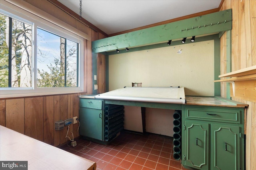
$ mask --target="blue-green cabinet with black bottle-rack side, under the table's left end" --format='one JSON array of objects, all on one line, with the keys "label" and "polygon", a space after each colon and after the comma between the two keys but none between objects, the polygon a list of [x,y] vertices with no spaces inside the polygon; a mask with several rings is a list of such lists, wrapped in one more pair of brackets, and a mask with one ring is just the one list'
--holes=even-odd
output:
[{"label": "blue-green cabinet with black bottle-rack side, under the table's left end", "polygon": [[79,102],[79,134],[82,137],[107,144],[124,129],[124,106],[104,104],[104,100],[86,95],[81,96]]}]

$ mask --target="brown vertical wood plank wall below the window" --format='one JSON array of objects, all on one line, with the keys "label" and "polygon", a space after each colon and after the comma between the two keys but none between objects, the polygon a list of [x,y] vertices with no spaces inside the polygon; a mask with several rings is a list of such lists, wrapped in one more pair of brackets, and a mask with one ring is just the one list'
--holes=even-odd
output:
[{"label": "brown vertical wood plank wall below the window", "polygon": [[[67,128],[57,131],[55,121],[79,117],[79,95],[64,94],[44,97],[0,100],[0,125],[30,136],[50,145],[58,146],[68,141]],[[68,136],[78,137],[78,123],[70,125]]]}]

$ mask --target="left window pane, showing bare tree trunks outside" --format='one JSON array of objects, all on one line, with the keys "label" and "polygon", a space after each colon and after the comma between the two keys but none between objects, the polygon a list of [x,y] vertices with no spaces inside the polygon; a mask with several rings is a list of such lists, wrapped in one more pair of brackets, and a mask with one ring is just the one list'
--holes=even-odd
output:
[{"label": "left window pane, showing bare tree trunks outside", "polygon": [[2,14],[0,18],[1,87],[31,87],[32,25]]}]

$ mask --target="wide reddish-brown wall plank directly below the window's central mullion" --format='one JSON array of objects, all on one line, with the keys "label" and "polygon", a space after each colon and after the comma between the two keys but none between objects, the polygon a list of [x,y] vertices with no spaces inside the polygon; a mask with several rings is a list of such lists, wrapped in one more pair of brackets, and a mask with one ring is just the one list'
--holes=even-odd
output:
[{"label": "wide reddish-brown wall plank directly below the window's central mullion", "polygon": [[43,141],[44,139],[44,98],[25,98],[24,135]]}]

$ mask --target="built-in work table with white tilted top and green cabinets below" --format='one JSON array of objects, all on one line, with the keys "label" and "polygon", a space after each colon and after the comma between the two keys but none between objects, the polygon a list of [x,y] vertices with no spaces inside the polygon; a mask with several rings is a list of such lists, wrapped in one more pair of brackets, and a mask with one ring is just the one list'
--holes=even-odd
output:
[{"label": "built-in work table with white tilted top and green cabinets below", "polygon": [[244,170],[247,104],[217,96],[185,96],[180,87],[166,92],[163,88],[145,90],[123,88],[80,96],[80,135],[110,142],[124,128],[124,106],[172,109],[180,114],[180,119],[174,118],[178,123],[173,123],[177,129],[174,159],[182,160],[186,168]]}]

